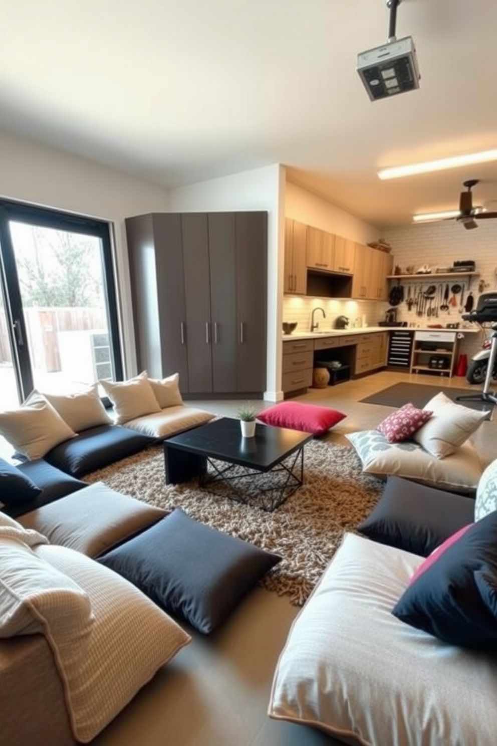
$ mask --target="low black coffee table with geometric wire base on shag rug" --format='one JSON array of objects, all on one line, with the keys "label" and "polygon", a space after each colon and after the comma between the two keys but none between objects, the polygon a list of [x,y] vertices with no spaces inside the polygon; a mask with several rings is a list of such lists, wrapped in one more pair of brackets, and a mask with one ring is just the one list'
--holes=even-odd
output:
[{"label": "low black coffee table with geometric wire base on shag rug", "polygon": [[253,438],[224,417],[164,441],[165,483],[198,477],[200,487],[275,510],[303,484],[311,433],[256,423]]}]

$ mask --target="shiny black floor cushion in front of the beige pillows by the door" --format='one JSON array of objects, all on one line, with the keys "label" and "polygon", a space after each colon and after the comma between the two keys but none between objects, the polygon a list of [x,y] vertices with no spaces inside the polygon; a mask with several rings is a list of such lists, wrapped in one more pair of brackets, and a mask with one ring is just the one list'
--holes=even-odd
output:
[{"label": "shiny black floor cushion in front of the beige pillows by the door", "polygon": [[153,443],[153,438],[128,427],[104,424],[82,430],[45,454],[45,460],[73,477],[82,477],[114,461],[132,456]]}]

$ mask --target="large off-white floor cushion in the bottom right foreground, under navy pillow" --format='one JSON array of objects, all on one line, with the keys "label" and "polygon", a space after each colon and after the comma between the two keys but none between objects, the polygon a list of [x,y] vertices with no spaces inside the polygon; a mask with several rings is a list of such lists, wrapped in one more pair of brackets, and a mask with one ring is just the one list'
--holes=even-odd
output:
[{"label": "large off-white floor cushion in the bottom right foreground, under navy pillow", "polygon": [[365,746],[495,744],[497,658],[447,645],[390,613],[422,561],[346,534],[291,627],[272,718]]}]

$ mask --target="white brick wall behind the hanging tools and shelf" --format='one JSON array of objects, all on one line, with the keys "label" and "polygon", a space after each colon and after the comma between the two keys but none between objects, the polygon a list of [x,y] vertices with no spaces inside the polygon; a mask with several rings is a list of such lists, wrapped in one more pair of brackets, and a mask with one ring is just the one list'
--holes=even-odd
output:
[{"label": "white brick wall behind the hanging tools and shelf", "polygon": [[[447,280],[437,279],[434,270],[453,266],[455,261],[473,260],[475,271],[479,277],[471,280],[470,290],[475,298],[475,307],[478,301],[479,280],[482,281],[483,292],[497,290],[497,220],[481,220],[478,228],[472,231],[466,229],[455,220],[446,220],[433,223],[422,223],[419,225],[408,225],[405,228],[396,228],[384,231],[384,237],[392,246],[393,264],[398,265],[402,272],[410,265],[414,271],[427,264],[432,274],[426,278],[425,287],[428,283],[437,284],[439,281],[446,283]],[[465,283],[467,294],[468,278],[464,275],[454,275],[454,280],[449,278],[449,284]],[[402,280],[406,288],[409,283]],[[419,280],[411,283],[411,288],[418,286]],[[460,298],[460,295],[458,296]],[[405,304],[397,307],[399,321],[408,323],[443,324],[457,323],[465,324],[458,310],[459,307],[450,307],[450,313],[440,312],[434,319],[419,319],[415,310],[408,311]],[[468,324],[469,328],[475,325]],[[485,336],[485,335],[483,335]],[[468,355],[468,358],[481,346],[481,335],[466,335],[460,346],[460,352]]]}]

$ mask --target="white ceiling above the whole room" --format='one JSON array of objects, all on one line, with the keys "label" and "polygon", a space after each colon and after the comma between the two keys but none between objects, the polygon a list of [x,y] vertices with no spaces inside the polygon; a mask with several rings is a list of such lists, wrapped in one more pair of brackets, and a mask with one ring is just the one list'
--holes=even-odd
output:
[{"label": "white ceiling above the whole room", "polygon": [[[283,163],[379,227],[497,205],[497,163],[376,169],[497,148],[496,0],[404,0],[420,90],[371,102],[358,52],[385,0],[0,0],[0,128],[165,187]],[[492,204],[493,203],[493,204]]]}]

